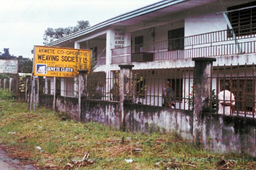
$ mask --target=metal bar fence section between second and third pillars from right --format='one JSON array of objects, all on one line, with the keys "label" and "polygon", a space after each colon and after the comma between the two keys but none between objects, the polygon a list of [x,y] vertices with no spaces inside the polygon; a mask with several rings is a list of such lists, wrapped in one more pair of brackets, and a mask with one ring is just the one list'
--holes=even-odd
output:
[{"label": "metal bar fence section between second and third pillars from right", "polygon": [[91,72],[87,76],[87,99],[119,101],[119,71]]}]

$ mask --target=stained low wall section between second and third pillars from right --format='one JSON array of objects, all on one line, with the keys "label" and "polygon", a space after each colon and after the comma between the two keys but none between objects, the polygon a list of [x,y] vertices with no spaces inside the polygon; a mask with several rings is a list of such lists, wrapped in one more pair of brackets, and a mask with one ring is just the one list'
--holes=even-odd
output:
[{"label": "stained low wall section between second and third pillars from right", "polygon": [[99,122],[119,128],[119,102],[100,100],[81,100],[81,121]]}]

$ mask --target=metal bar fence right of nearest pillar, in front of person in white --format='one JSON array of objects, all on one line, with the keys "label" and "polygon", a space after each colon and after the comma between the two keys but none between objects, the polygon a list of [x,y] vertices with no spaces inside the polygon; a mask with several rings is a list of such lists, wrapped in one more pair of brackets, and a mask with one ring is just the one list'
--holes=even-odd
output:
[{"label": "metal bar fence right of nearest pillar, in front of person in white", "polygon": [[[215,105],[219,114],[236,115],[244,117],[255,117],[256,97],[255,97],[255,76],[256,70],[254,63],[251,65],[236,66],[215,66],[213,67],[212,90],[215,93]],[[223,89],[228,83],[230,92]],[[221,91],[223,91],[221,93]],[[214,102],[214,101],[213,101]],[[224,104],[221,104],[224,103]],[[232,111],[232,106],[234,110]]]}]

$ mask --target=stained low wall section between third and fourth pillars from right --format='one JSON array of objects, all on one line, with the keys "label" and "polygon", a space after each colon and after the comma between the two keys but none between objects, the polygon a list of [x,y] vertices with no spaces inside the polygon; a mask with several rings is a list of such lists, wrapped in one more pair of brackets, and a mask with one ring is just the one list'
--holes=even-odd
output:
[{"label": "stained low wall section between third and fourth pillars from right", "polygon": [[56,96],[56,111],[69,114],[70,118],[79,120],[78,99],[71,97]]}]

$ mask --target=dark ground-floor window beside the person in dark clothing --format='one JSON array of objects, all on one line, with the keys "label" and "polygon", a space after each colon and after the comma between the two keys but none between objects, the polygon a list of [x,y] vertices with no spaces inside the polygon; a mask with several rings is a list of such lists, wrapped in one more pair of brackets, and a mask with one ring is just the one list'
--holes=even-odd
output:
[{"label": "dark ground-floor window beside the person in dark clothing", "polygon": [[183,80],[182,79],[167,79],[167,81],[170,81],[171,88],[174,91],[175,101],[182,101]]}]

